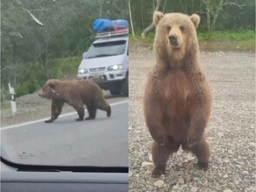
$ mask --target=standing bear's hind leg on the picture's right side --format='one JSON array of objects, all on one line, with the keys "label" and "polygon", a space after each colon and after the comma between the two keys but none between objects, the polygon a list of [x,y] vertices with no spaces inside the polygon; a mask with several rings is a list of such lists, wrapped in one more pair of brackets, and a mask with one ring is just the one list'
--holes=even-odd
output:
[{"label": "standing bear's hind leg on the picture's right side", "polygon": [[201,141],[196,143],[196,145],[192,147],[187,147],[186,145],[182,145],[182,148],[186,151],[190,151],[192,154],[196,155],[197,165],[199,168],[207,170],[209,168],[209,160],[210,160],[210,145],[202,138]]}]

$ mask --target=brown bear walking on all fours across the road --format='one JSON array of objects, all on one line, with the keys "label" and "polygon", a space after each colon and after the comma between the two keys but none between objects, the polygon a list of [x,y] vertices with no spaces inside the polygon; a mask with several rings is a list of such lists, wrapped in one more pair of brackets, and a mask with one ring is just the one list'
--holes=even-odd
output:
[{"label": "brown bear walking on all fours across the road", "polygon": [[110,117],[111,108],[103,96],[101,88],[90,80],[66,80],[58,79],[47,80],[45,86],[42,87],[41,98],[52,99],[52,115],[50,120],[45,122],[53,122],[61,113],[64,103],[73,106],[78,113],[79,118],[83,120],[84,105],[87,107],[89,117],[86,120],[96,118],[96,109],[107,112]]}]

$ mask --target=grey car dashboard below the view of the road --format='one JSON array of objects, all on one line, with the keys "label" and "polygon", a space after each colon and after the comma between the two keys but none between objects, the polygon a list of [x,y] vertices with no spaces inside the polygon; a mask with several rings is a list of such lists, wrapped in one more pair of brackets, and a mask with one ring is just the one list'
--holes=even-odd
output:
[{"label": "grey car dashboard below the view of the road", "polygon": [[129,168],[29,166],[1,155],[2,192],[128,191]]}]

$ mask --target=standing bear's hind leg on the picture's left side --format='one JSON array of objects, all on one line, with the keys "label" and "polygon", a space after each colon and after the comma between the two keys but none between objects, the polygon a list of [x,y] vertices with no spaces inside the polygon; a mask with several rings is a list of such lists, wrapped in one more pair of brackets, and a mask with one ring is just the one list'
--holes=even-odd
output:
[{"label": "standing bear's hind leg on the picture's left side", "polygon": [[178,151],[180,147],[179,143],[176,143],[172,137],[167,137],[167,142],[164,145],[153,141],[152,157],[154,168],[152,171],[152,177],[160,177],[166,173],[167,160],[170,154]]}]

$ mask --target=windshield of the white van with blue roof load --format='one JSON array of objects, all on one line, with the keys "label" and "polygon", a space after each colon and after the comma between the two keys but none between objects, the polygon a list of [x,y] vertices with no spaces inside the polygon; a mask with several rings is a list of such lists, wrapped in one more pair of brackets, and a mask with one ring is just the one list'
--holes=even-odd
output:
[{"label": "windshield of the white van with blue roof load", "polygon": [[125,52],[125,40],[93,44],[89,47],[85,58],[100,58],[122,55]]}]

